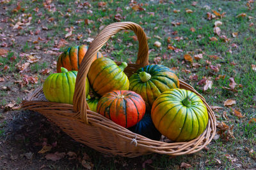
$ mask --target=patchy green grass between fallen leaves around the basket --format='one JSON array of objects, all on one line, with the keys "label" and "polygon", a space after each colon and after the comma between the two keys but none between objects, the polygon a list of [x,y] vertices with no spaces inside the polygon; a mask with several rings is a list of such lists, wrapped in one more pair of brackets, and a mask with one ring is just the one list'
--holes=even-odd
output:
[{"label": "patchy green grass between fallen leaves around the basket", "polygon": [[[12,9],[15,8],[13,6],[16,5],[16,2],[10,1],[10,3],[6,4],[6,6],[10,6],[6,15],[15,20],[16,23],[19,17],[22,18],[23,13],[31,13],[31,24],[15,32],[19,32],[21,36],[24,36],[29,34],[29,30],[35,32],[41,29],[39,35],[49,41],[47,43],[39,43],[38,46],[45,51],[52,50],[58,39],[65,38],[65,34],[67,34],[65,29],[70,27],[74,27],[74,31],[72,32],[73,37],[66,39],[69,43],[67,46],[86,43],[84,39],[95,38],[100,31],[100,27],[117,22],[115,19],[117,13],[124,17],[121,19],[122,21],[132,21],[140,24],[148,36],[149,62],[151,64],[154,63],[155,57],[161,57],[159,64],[168,67],[178,67],[177,76],[193,85],[198,92],[203,94],[209,105],[223,106],[225,100],[235,99],[236,105],[232,106],[232,108],[241,111],[244,115],[244,118],[237,118],[233,111],[227,107],[221,111],[216,111],[216,115],[219,116],[218,122],[225,121],[228,126],[234,125],[233,132],[235,138],[229,138],[228,141],[222,138],[212,140],[208,146],[209,150],[172,159],[166,155],[154,155],[153,158],[152,155],[145,155],[140,157],[141,161],[154,159],[153,163],[150,164],[153,169],[177,169],[181,162],[195,163],[194,169],[236,169],[237,164],[241,164],[245,169],[255,167],[255,152],[249,154],[246,148],[256,150],[256,124],[248,124],[251,118],[255,118],[256,112],[255,100],[253,101],[253,97],[256,96],[256,76],[255,71],[251,67],[252,64],[256,64],[256,18],[248,18],[248,16],[256,16],[256,4],[252,3],[253,10],[248,10],[246,1],[196,1],[196,6],[191,6],[192,1],[175,1],[173,4],[167,1],[164,1],[165,3],[159,1],[138,1],[138,4],[143,4],[141,7],[145,10],[134,11],[129,5],[130,1],[113,0],[112,3],[109,1],[105,2],[106,6],[99,7],[99,1],[89,1],[90,6],[86,6],[86,4],[78,6],[74,1],[58,1],[54,2],[56,10],[54,11],[54,8],[51,7],[49,11],[44,7],[44,1],[22,1],[21,6],[24,8],[24,11],[19,10],[17,13],[13,13]],[[205,9],[205,5],[208,5],[211,10]],[[40,9],[38,13],[33,10],[36,7]],[[116,11],[118,7],[122,11]],[[186,13],[187,8],[192,10],[193,13]],[[180,10],[180,12],[174,13],[173,10]],[[212,13],[212,10],[216,10],[219,13],[226,12],[226,14],[224,17],[217,16],[216,19],[207,20],[207,12]],[[42,13],[42,15],[39,15],[39,13]],[[240,13],[246,13],[246,17],[236,17]],[[49,22],[48,19],[51,17],[54,20]],[[40,24],[38,24],[39,19],[41,21]],[[92,20],[93,24],[86,25],[84,19]],[[214,34],[213,27],[216,20],[223,22],[219,26],[221,29],[220,35],[227,36],[230,41],[222,41],[218,35]],[[180,22],[180,25],[175,26],[172,22]],[[252,27],[249,26],[251,23],[254,23]],[[42,30],[42,25],[49,30]],[[195,28],[195,32],[190,30],[191,27]],[[2,32],[4,32],[4,29],[0,30],[0,33]],[[173,32],[177,32],[177,34],[173,34]],[[237,32],[236,37],[232,36],[233,32]],[[83,38],[76,39],[77,34],[83,34]],[[101,51],[105,52],[107,57],[115,60],[126,62],[131,60],[135,62],[138,52],[138,41],[134,41],[132,36],[134,36],[132,31],[118,32],[109,39],[108,45],[103,46]],[[168,37],[171,38],[170,43],[167,41]],[[181,38],[180,41],[175,40],[175,37]],[[216,37],[218,41],[211,41],[210,38],[212,37]],[[161,48],[154,46],[155,41],[161,42]],[[169,44],[181,49],[182,52],[168,50]],[[232,46],[234,44],[237,45],[237,48]],[[63,51],[67,46],[61,47],[60,50]],[[15,43],[13,47],[10,46],[10,52],[7,57],[0,57],[0,62],[3,63],[3,66],[8,65],[10,69],[8,71],[0,69],[0,76],[11,73],[19,74],[15,64],[20,60],[24,62],[24,59],[19,57],[19,53],[34,51],[35,45],[29,41],[25,41],[21,45]],[[201,64],[200,67],[195,68],[190,62],[184,61],[183,55],[185,53],[191,53],[191,56],[193,56],[202,52],[204,53],[202,60],[193,60],[194,63]],[[170,59],[163,59],[164,55],[170,57]],[[209,57],[210,55],[217,55],[220,58],[212,59]],[[13,56],[17,58],[11,60]],[[55,59],[57,58],[55,57]],[[207,64],[209,62],[211,64]],[[217,66],[218,64],[221,64],[218,73],[209,69],[209,65]],[[29,68],[32,74],[38,73],[44,79],[46,76],[42,75],[40,71],[49,68],[50,65],[51,62],[44,61],[44,58],[42,58],[40,62],[31,64]],[[190,73],[182,71],[184,69],[189,69]],[[198,76],[198,80],[191,80],[189,78],[193,74]],[[215,80],[219,75],[225,76],[225,78]],[[208,89],[205,92],[200,85],[197,85],[198,81],[203,77],[211,77],[213,81],[212,89]],[[234,78],[237,85],[241,84],[242,87],[238,87],[237,92],[221,88],[229,87],[229,78]],[[40,83],[42,82],[40,81],[38,85]],[[33,87],[29,86],[29,88]],[[4,97],[1,101],[3,106],[8,101],[6,92],[1,91],[0,95]],[[20,103],[21,99],[22,97],[17,98],[17,103]],[[227,111],[228,120],[222,117],[223,111]],[[93,155],[97,155],[97,152],[92,152],[91,154],[94,157]],[[236,157],[237,161],[232,162],[230,159],[227,159],[225,156],[227,154]],[[100,164],[102,159],[104,158],[97,157],[97,159],[93,159],[96,168],[100,169],[102,167],[102,164]],[[118,157],[116,159],[121,158]],[[221,164],[216,159],[220,160]],[[133,159],[124,160],[129,162]],[[106,166],[106,169],[118,168],[115,167],[114,160],[109,160],[109,164],[104,166]]]}]

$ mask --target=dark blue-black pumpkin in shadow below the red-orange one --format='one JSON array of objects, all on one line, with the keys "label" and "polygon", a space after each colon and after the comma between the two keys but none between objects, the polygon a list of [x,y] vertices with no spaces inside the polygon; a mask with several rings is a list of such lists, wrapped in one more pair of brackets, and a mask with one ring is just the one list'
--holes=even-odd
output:
[{"label": "dark blue-black pumpkin in shadow below the red-orange one", "polygon": [[144,117],[138,122],[138,124],[129,128],[130,131],[145,136],[149,139],[159,141],[162,134],[156,129],[152,122],[151,115],[145,113]]}]

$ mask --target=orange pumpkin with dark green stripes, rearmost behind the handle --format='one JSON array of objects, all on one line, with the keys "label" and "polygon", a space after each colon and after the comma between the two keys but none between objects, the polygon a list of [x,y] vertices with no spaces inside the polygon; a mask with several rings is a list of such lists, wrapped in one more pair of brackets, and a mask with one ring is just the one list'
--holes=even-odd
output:
[{"label": "orange pumpkin with dark green stripes, rearmost behind the handle", "polygon": [[[88,46],[71,46],[65,52],[61,53],[57,62],[57,73],[61,72],[61,67],[65,67],[68,71],[78,71],[78,68],[84,58],[85,53],[88,50]],[[102,53],[97,52],[94,60],[99,57],[103,57]]]}]

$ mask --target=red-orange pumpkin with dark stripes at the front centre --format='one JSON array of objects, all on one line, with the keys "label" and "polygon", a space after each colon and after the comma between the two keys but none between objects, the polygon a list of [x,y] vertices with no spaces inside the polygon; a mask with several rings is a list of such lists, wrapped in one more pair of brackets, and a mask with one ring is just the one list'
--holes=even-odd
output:
[{"label": "red-orange pumpkin with dark stripes at the front centre", "polygon": [[97,105],[97,113],[126,128],[140,122],[145,110],[142,97],[129,90],[108,92],[100,98]]}]

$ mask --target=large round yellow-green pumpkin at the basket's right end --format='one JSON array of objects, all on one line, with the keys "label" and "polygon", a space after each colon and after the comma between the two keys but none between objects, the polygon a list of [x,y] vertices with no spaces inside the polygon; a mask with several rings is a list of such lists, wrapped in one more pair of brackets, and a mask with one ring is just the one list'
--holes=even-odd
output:
[{"label": "large round yellow-green pumpkin at the basket's right end", "polygon": [[156,129],[172,141],[189,141],[204,132],[207,108],[194,92],[171,89],[154,101],[151,117]]}]

